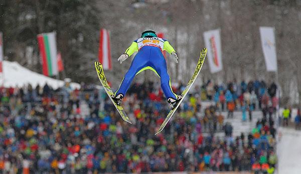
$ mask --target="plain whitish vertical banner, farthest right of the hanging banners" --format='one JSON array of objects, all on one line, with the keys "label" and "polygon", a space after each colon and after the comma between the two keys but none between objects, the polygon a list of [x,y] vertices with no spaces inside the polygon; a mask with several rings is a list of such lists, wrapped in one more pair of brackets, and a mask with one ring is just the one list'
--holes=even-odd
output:
[{"label": "plain whitish vertical banner, farthest right of the hanging banners", "polygon": [[277,72],[277,57],[273,27],[260,27],[261,47],[267,71]]}]

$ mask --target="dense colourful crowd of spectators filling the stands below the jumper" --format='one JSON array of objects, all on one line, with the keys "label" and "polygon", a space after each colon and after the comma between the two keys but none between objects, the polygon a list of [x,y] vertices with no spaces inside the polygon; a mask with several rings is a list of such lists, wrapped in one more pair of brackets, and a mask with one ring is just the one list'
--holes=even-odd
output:
[{"label": "dense colourful crowd of spectators filling the stands below the jumper", "polygon": [[[66,84],[53,90],[46,84],[1,88],[0,170],[104,173],[250,170],[257,163],[274,166],[273,121],[263,117],[247,137],[243,133],[233,137],[233,127],[224,124],[216,107],[202,109],[204,89],[208,99],[222,91],[227,97],[230,92],[233,101],[239,99],[239,94],[256,94],[257,83],[253,83],[254,88],[241,84],[245,89],[241,92],[234,83],[227,88],[214,85],[212,93],[208,87],[211,82],[205,88],[196,87],[179,107],[178,116],[157,136],[154,134],[169,106],[160,85],[153,82],[133,84],[123,99],[133,124],[124,122],[104,91],[94,87],[83,85],[72,90]],[[180,93],[184,87],[179,84],[174,91]],[[266,92],[258,94],[264,96]],[[247,95],[243,96],[248,101]],[[202,132],[207,127],[223,129],[226,135],[205,136]]]}]

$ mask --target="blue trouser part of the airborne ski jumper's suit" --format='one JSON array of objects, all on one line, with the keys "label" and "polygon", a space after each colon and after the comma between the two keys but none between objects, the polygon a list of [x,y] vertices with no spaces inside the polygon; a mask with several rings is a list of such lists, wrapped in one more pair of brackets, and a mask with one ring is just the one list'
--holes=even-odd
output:
[{"label": "blue trouser part of the airborne ski jumper's suit", "polygon": [[177,99],[175,93],[173,93],[171,87],[171,79],[167,72],[167,65],[165,58],[161,52],[160,48],[152,46],[144,46],[134,57],[129,70],[125,74],[119,89],[115,92],[115,96],[122,94],[125,96],[126,91],[128,90],[133,78],[137,73],[145,69],[155,70],[156,73],[161,78],[161,88],[166,96],[166,98]]}]

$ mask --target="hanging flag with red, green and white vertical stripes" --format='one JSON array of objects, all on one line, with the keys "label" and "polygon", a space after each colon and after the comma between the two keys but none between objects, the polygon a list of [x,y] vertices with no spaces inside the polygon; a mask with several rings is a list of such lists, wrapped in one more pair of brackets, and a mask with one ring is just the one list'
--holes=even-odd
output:
[{"label": "hanging flag with red, green and white vertical stripes", "polygon": [[43,74],[54,76],[58,74],[56,33],[43,33],[38,35],[40,57],[42,60]]}]

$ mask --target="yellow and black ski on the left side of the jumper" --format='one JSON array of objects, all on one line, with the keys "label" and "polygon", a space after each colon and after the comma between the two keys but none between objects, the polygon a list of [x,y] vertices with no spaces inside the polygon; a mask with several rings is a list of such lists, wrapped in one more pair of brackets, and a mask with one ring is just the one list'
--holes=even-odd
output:
[{"label": "yellow and black ski on the left side of the jumper", "polygon": [[112,103],[114,104],[115,108],[117,109],[117,111],[119,112],[120,116],[122,117],[122,119],[128,123],[131,124],[128,116],[126,115],[126,113],[124,112],[123,108],[119,105],[117,105],[114,100],[112,99],[112,96],[114,96],[114,93],[112,92],[110,86],[108,85],[108,82],[106,81],[106,78],[104,76],[104,72],[103,72],[103,68],[101,63],[99,62],[95,62],[95,68],[96,68],[96,72],[98,75],[98,78],[105,90],[105,92],[107,93],[107,95],[109,96],[110,100],[112,101]]}]

